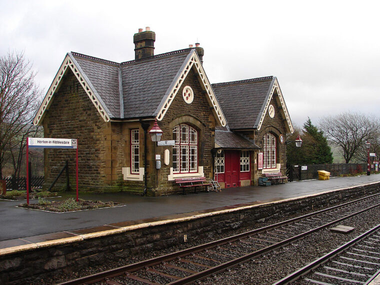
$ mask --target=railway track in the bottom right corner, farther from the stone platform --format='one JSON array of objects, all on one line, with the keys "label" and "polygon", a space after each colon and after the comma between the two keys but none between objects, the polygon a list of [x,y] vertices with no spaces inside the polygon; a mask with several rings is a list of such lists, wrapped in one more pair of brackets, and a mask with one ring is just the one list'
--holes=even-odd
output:
[{"label": "railway track in the bottom right corner, farther from the stone platform", "polygon": [[380,224],[273,285],[368,284],[380,273]]}]

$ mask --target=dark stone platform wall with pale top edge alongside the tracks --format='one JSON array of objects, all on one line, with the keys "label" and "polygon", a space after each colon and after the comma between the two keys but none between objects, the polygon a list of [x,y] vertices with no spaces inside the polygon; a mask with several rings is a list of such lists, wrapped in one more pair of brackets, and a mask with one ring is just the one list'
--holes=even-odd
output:
[{"label": "dark stone platform wall with pale top edge alongside the tracks", "polygon": [[300,209],[332,205],[349,198],[379,192],[380,182],[260,205],[127,226],[98,233],[0,249],[0,283],[25,284],[52,274],[78,271],[88,265],[165,248],[252,225],[265,217]]}]

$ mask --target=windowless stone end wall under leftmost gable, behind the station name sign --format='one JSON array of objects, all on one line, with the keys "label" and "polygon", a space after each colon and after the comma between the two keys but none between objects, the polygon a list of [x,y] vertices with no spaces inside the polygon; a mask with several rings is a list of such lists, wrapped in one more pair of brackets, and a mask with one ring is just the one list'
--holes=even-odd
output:
[{"label": "windowless stone end wall under leftmost gable, behind the station name sign", "polygon": [[[78,139],[78,175],[80,190],[103,190],[111,187],[109,151],[111,146],[110,123],[104,122],[88,95],[70,69],[64,75],[59,90],[45,111],[43,129],[45,137]],[[70,185],[75,188],[75,149],[45,148],[45,186],[48,187],[69,162]],[[55,189],[65,185],[62,175]]]}]

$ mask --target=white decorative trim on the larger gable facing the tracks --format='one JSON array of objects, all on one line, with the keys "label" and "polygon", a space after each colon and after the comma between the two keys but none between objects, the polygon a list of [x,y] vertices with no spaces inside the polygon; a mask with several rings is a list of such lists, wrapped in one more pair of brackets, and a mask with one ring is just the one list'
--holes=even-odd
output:
[{"label": "white decorative trim on the larger gable facing the tracks", "polygon": [[167,95],[166,100],[162,104],[162,107],[160,108],[160,110],[157,114],[157,120],[163,119],[166,111],[170,107],[170,104],[174,100],[175,95],[177,94],[177,92],[180,89],[184,79],[186,78],[187,73],[190,71],[190,69],[193,65],[195,66],[195,69],[199,73],[200,80],[203,83],[203,87],[206,90],[206,93],[208,95],[208,101],[209,101],[210,105],[212,105],[212,107],[213,107],[214,114],[218,118],[220,124],[222,126],[225,126],[226,120],[225,120],[224,114],[220,108],[219,102],[216,99],[216,96],[215,96],[215,94],[211,88],[211,84],[207,79],[207,76],[203,70],[202,64],[200,63],[199,57],[196,54],[195,50],[191,54],[191,56],[190,56],[189,60],[187,61],[185,67],[182,69],[180,75],[178,76],[174,86],[172,87],[169,94]]}]

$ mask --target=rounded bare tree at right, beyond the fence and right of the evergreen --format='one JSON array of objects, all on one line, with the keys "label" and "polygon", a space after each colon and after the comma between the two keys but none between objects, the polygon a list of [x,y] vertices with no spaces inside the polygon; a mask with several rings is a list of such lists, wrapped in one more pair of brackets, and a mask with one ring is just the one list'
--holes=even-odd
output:
[{"label": "rounded bare tree at right, beyond the fence and right of the evergreen", "polygon": [[357,112],[325,116],[319,121],[319,128],[339,148],[346,163],[357,155],[366,140],[374,138],[378,126],[377,119]]}]

